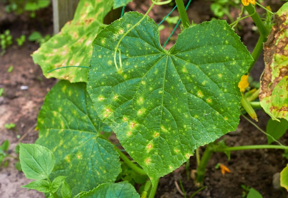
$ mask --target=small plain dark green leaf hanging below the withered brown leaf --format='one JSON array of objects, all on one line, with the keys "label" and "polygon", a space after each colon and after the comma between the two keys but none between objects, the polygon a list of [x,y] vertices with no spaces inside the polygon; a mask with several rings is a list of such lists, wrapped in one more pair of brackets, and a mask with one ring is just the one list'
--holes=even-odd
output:
[{"label": "small plain dark green leaf hanging below the withered brown leaf", "polygon": [[[288,122],[284,118],[279,119],[280,122],[270,118],[266,125],[266,133],[271,135],[275,140],[281,138],[288,128]],[[267,136],[268,144],[274,142],[270,136]]]}]

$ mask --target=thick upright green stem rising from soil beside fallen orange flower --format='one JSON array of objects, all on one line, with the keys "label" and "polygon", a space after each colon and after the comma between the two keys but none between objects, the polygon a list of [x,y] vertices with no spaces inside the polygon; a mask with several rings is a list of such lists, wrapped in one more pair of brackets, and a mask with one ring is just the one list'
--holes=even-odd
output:
[{"label": "thick upright green stem rising from soil beside fallen orange flower", "polygon": [[197,166],[197,174],[196,174],[196,184],[197,186],[202,186],[204,176],[206,173],[206,166],[207,163],[213,154],[213,149],[212,149],[213,143],[210,143],[206,146],[206,149],[201,157],[200,164]]}]

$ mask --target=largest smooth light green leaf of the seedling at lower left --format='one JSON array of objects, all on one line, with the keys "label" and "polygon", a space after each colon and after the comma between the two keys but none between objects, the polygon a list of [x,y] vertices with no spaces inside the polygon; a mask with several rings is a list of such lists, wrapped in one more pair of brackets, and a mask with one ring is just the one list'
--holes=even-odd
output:
[{"label": "largest smooth light green leaf of the seedling at lower left", "polygon": [[53,170],[55,157],[44,146],[37,144],[19,144],[19,159],[26,178],[47,179]]}]

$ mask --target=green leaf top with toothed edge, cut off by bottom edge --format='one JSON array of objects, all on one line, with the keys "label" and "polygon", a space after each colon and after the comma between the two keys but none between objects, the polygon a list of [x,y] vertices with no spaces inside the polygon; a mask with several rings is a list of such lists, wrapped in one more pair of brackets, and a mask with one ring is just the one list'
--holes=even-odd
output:
[{"label": "green leaf top with toothed edge, cut off by bottom edge", "polygon": [[134,186],[127,181],[113,183],[105,183],[97,186],[92,191],[85,193],[79,198],[140,198]]}]

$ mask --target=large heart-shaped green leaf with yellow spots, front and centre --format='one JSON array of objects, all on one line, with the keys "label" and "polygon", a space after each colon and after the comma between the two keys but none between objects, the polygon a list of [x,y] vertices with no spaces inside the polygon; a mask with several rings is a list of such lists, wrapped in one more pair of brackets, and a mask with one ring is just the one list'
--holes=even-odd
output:
[{"label": "large heart-shaped green leaf with yellow spots, front and centre", "polygon": [[154,185],[198,146],[236,129],[238,82],[253,59],[224,20],[185,29],[166,52],[158,26],[145,17],[120,43],[118,72],[115,47],[142,17],[128,12],[97,35],[87,91],[98,116]]}]

